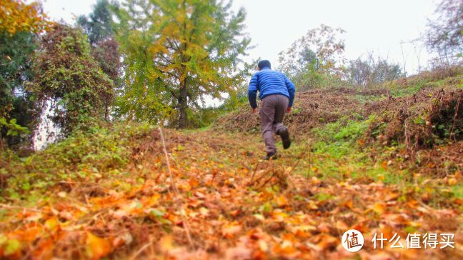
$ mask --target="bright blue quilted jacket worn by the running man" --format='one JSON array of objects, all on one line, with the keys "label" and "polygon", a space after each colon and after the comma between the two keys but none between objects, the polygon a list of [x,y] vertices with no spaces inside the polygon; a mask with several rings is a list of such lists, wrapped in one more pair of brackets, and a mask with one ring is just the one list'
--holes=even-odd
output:
[{"label": "bright blue quilted jacket worn by the running man", "polygon": [[287,96],[289,99],[288,106],[292,106],[296,89],[294,84],[282,72],[272,71],[269,67],[264,67],[256,72],[249,82],[248,99],[253,109],[257,108],[257,91],[259,91],[259,99],[261,100],[273,94]]}]

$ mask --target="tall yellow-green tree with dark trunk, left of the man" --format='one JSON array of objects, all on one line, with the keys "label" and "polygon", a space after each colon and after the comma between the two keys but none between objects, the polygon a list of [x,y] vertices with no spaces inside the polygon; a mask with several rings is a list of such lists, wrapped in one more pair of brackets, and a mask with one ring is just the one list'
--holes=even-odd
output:
[{"label": "tall yellow-green tree with dark trunk, left of the man", "polygon": [[[249,39],[245,11],[215,0],[129,0],[118,10],[126,66],[119,113],[185,128],[204,96],[233,94]],[[190,116],[191,117],[191,116]]]}]

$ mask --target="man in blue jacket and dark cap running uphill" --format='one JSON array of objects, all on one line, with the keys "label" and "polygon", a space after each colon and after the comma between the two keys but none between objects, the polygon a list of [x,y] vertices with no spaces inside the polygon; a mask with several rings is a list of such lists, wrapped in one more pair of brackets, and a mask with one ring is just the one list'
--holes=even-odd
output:
[{"label": "man in blue jacket and dark cap running uphill", "polygon": [[257,71],[249,82],[248,99],[252,113],[257,114],[256,94],[262,100],[260,109],[262,137],[267,151],[266,160],[277,159],[277,146],[275,146],[274,133],[282,137],[283,148],[291,145],[289,131],[282,124],[285,111],[291,112],[296,89],[294,84],[279,71],[272,71],[270,61],[259,61]]}]

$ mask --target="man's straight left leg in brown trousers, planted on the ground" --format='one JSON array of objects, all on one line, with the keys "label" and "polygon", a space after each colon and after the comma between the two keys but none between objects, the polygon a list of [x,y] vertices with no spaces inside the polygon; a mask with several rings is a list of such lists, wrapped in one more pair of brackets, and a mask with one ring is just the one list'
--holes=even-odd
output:
[{"label": "man's straight left leg in brown trousers, planted on the ground", "polygon": [[265,142],[265,151],[267,154],[274,153],[277,151],[275,146],[274,133],[273,133],[273,122],[275,116],[275,102],[274,95],[266,96],[262,99],[262,108],[260,109],[261,114],[261,126],[262,126],[262,137]]}]

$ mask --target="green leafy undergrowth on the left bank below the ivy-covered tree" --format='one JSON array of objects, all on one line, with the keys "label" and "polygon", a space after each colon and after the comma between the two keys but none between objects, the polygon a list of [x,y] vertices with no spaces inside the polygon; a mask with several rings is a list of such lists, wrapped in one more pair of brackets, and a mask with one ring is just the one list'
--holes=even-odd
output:
[{"label": "green leafy undergrowth on the left bank below the ivy-covered tree", "polygon": [[152,129],[148,124],[97,126],[75,131],[58,144],[24,158],[3,151],[0,201],[36,201],[42,191],[61,181],[94,182],[102,174],[121,174],[134,147]]}]

